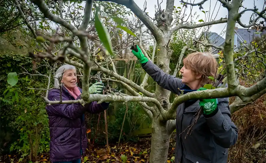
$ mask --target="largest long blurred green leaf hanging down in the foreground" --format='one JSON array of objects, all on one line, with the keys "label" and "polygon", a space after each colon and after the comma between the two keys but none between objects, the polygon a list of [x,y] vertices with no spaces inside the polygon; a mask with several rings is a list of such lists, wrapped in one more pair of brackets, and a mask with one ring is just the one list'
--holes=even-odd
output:
[{"label": "largest long blurred green leaf hanging down in the foreground", "polygon": [[96,9],[95,12],[95,28],[97,31],[97,34],[99,36],[99,39],[102,41],[104,47],[107,49],[107,51],[113,55],[112,51],[112,43],[110,39],[110,35],[106,28],[103,26],[102,22],[100,21],[100,15],[98,14],[99,8]]}]

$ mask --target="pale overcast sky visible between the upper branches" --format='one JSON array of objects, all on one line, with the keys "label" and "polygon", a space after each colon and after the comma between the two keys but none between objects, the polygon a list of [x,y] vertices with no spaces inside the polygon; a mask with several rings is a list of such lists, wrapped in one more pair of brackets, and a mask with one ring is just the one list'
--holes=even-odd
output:
[{"label": "pale overcast sky visible between the upper branches", "polygon": [[[135,3],[143,10],[143,5],[144,5],[144,2],[145,0],[134,0]],[[194,3],[198,3],[202,0],[194,0]],[[159,0],[159,3],[161,2],[161,0]],[[192,0],[193,2],[193,0]],[[227,15],[228,15],[228,11],[226,8],[224,8],[223,6],[220,7],[219,9],[219,6],[220,6],[220,2],[218,1],[217,4],[216,4],[217,0],[209,0],[209,1],[206,1],[202,7],[204,11],[209,11],[212,13],[213,10],[214,10],[214,13],[213,13],[213,17],[215,17],[215,15],[217,14],[217,17],[215,20],[218,20],[220,18],[225,18]],[[262,11],[262,8],[264,6],[264,3],[265,3],[265,0],[244,0],[244,2],[242,3],[242,5],[248,9],[254,9],[254,4],[255,6],[259,9],[259,11]],[[216,7],[215,7],[215,4],[216,4]],[[154,14],[155,14],[155,8],[154,6],[158,6],[157,4],[157,0],[147,0],[147,9],[146,9],[146,12],[148,12],[149,16],[154,18]],[[176,7],[180,6],[182,7],[181,5],[181,2],[180,0],[175,0],[175,3],[174,5]],[[166,8],[166,0],[163,0],[162,4],[161,4],[161,9],[165,9]],[[211,8],[211,9],[210,9]],[[218,10],[219,9],[219,10]],[[243,10],[244,8],[242,7],[241,10]],[[199,6],[194,6],[193,9],[192,9],[192,12],[195,13],[197,12],[197,14],[199,14],[199,20],[200,19],[205,19],[205,15],[204,13],[202,12],[202,10],[200,11],[199,9]],[[188,9],[186,11],[187,15],[189,15],[190,13],[190,6],[188,6]],[[249,18],[252,14],[252,11],[246,11],[242,16],[241,16],[241,21],[242,23],[244,24],[249,24]],[[199,22],[200,23],[200,22]],[[236,26],[238,26],[238,28],[243,28],[241,27],[239,24],[236,24]],[[226,29],[226,23],[223,23],[223,24],[216,24],[216,25],[213,25],[211,28],[210,28],[210,31],[211,32],[216,32],[218,34],[221,33],[221,31],[223,29]],[[225,38],[225,35],[223,35],[223,37]]]}]

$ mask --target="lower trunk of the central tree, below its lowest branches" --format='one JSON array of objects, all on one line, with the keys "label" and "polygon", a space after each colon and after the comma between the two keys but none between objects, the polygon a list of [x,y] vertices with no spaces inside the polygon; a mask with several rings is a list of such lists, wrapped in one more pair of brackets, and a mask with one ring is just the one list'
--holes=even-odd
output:
[{"label": "lower trunk of the central tree, below its lowest branches", "polygon": [[152,127],[150,163],[166,163],[171,134],[166,127],[167,122],[155,119]]}]

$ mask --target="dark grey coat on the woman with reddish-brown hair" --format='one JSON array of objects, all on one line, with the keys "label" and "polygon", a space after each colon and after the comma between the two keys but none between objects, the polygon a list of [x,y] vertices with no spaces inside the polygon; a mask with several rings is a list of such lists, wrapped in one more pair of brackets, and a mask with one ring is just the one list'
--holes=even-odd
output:
[{"label": "dark grey coat on the woman with reddish-brown hair", "polygon": [[[166,74],[151,61],[142,67],[158,85],[175,94],[180,94],[177,88],[186,86],[180,78]],[[236,143],[238,136],[238,129],[231,121],[229,98],[219,98],[215,115],[208,117],[202,114],[194,125],[192,134],[185,139],[187,132],[182,131],[192,123],[200,108],[199,100],[186,106],[183,103],[176,109],[175,162],[226,163],[228,148]]]}]

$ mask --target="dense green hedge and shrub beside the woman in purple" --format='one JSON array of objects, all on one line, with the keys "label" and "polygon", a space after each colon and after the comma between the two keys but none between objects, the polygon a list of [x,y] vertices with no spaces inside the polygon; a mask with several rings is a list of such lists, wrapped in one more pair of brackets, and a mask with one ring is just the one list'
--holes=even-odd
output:
[{"label": "dense green hedge and shrub beside the woman in purple", "polygon": [[[4,153],[21,151],[35,158],[49,150],[48,117],[41,98],[44,91],[25,87],[45,88],[47,79],[20,74],[25,71],[22,67],[33,73],[32,59],[25,55],[9,52],[1,54],[0,61],[1,149]],[[46,74],[47,69],[41,66],[38,72]],[[14,80],[17,73],[18,79]]]}]

